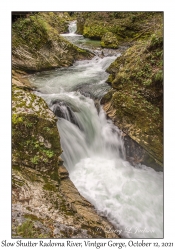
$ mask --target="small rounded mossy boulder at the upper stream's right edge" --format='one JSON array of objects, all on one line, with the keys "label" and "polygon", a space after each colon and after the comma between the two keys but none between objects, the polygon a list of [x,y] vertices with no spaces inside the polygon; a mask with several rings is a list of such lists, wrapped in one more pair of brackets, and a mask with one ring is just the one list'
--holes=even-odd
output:
[{"label": "small rounded mossy boulder at the upper stream's right edge", "polygon": [[105,48],[117,49],[118,40],[115,34],[113,34],[112,32],[107,32],[106,34],[104,34],[101,39],[101,46]]}]

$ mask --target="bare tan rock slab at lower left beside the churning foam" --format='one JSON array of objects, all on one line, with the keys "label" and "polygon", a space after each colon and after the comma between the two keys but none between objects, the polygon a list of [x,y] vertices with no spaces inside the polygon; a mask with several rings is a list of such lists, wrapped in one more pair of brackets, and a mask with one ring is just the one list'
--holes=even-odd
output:
[{"label": "bare tan rock slab at lower left beside the churning foam", "polygon": [[[21,170],[22,169],[22,170]],[[64,172],[64,167],[61,168]],[[21,176],[23,185],[15,181]],[[37,178],[33,178],[37,176]],[[33,196],[32,203],[20,203],[13,194],[13,235],[23,238],[117,238],[105,232],[112,227],[105,218],[97,215],[94,207],[78,193],[69,177],[61,178],[59,186],[49,175],[23,166],[13,168],[13,189],[25,197]],[[48,185],[49,184],[49,185]],[[41,195],[42,194],[42,195]],[[36,202],[37,201],[37,202]],[[37,204],[37,205],[36,205]],[[39,208],[39,210],[38,210]],[[27,232],[25,231],[27,228]],[[36,230],[37,229],[37,230]]]}]

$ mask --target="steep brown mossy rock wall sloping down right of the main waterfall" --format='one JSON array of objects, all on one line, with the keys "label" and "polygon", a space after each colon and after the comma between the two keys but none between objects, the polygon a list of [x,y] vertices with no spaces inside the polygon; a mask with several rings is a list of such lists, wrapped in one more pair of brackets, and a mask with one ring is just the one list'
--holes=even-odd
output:
[{"label": "steep brown mossy rock wall sloping down right of the main waterfall", "polygon": [[137,42],[110,65],[113,87],[102,99],[116,125],[163,165],[162,26],[147,41]]}]

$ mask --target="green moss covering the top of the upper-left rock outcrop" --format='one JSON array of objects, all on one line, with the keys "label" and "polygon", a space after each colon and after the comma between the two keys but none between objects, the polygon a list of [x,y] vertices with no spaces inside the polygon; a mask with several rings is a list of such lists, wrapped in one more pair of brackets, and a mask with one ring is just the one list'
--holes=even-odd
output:
[{"label": "green moss covering the top of the upper-left rock outcrop", "polygon": [[53,12],[39,12],[28,18],[18,19],[12,26],[12,47],[27,43],[32,45],[33,52],[44,44],[51,48],[50,38],[53,38],[58,32],[66,32],[68,30],[67,21]]}]

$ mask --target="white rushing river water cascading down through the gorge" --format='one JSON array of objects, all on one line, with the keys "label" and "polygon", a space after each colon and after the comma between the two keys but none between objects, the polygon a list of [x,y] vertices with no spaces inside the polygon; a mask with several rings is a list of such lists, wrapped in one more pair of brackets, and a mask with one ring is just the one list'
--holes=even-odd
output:
[{"label": "white rushing river water cascading down through the gorge", "polygon": [[161,238],[163,174],[125,160],[120,131],[98,102],[109,89],[105,70],[119,55],[95,56],[30,80],[58,117],[62,158],[79,192],[122,237]]}]

